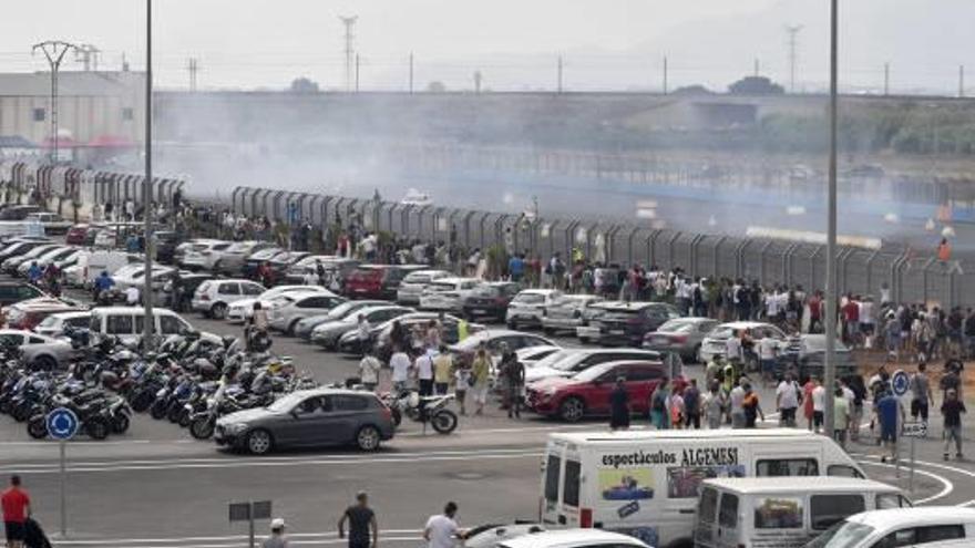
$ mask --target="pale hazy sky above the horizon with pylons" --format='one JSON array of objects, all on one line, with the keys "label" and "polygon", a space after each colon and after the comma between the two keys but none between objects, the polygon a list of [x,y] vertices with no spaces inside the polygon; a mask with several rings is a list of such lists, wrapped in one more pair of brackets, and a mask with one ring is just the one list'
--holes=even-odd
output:
[{"label": "pale hazy sky above the horizon with pylons", "polygon": [[[0,71],[44,70],[31,44],[91,43],[101,66],[123,54],[144,66],[145,3],[138,0],[3,0]],[[701,83],[720,90],[745,74],[786,83],[787,25],[802,25],[797,87],[818,91],[828,68],[828,0],[155,0],[156,80],[186,87],[189,58],[204,89],[279,89],[298,76],[341,89],[340,15],[358,15],[355,48],[363,90],[544,90],[564,62],[568,90],[654,90]],[[841,0],[841,80],[876,91],[884,63],[894,91],[957,89],[975,74],[971,0]],[[14,24],[10,24],[16,22]],[[69,70],[78,63],[65,64]],[[971,79],[975,82],[975,77]]]}]

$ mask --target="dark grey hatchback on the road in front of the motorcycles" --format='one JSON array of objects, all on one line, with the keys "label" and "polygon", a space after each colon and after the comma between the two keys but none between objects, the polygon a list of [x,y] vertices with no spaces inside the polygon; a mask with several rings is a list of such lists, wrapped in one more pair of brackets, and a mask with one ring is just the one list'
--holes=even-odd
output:
[{"label": "dark grey hatchback on the road in front of the motorcycles", "polygon": [[322,445],[376,451],[381,442],[392,440],[394,430],[392,413],[376,394],[316,389],[292,392],[267,407],[220,417],[214,440],[255,455]]}]

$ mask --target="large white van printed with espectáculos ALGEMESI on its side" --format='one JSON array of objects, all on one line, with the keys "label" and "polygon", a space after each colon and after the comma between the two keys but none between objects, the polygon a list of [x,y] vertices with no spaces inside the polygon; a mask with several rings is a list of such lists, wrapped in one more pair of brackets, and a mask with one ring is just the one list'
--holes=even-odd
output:
[{"label": "large white van printed with espect\u00e1culos ALGEMESI on its side", "polygon": [[804,430],[550,434],[540,520],[687,547],[705,479],[825,475],[866,477],[835,442]]}]

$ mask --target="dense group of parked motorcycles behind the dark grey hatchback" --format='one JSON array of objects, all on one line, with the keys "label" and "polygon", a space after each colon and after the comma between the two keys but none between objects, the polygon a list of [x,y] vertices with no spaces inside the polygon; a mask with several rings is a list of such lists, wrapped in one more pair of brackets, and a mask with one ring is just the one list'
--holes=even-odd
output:
[{"label": "dense group of parked motorcycles behind the dark grey hatchback", "polygon": [[171,335],[155,352],[103,338],[86,345],[70,333],[78,351],[66,371],[32,369],[17,347],[0,348],[0,413],[27,423],[33,438],[48,437],[48,414],[71,410],[79,432],[93,440],[129,431],[133,413],[148,413],[189,428],[193,437],[213,436],[223,415],[269,405],[316,383],[295,371],[287,358],[247,352],[236,338],[198,333]]}]

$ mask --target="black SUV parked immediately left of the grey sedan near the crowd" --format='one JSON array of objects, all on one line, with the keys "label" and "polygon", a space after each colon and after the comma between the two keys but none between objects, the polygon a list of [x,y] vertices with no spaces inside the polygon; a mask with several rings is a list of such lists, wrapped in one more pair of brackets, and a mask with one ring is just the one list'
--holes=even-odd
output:
[{"label": "black SUV parked immediately left of the grey sedan near the crowd", "polygon": [[617,301],[605,303],[599,310],[602,313],[589,320],[588,325],[576,328],[576,333],[585,333],[607,347],[639,347],[644,335],[680,318],[677,308],[665,302]]}]

